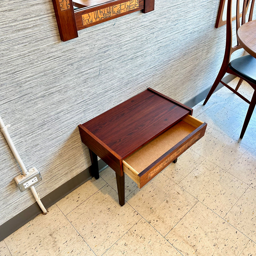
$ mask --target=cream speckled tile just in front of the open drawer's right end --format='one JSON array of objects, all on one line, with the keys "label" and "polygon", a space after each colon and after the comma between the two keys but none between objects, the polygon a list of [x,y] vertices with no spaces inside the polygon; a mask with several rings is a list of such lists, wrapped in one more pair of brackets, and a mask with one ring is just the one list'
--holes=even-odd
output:
[{"label": "cream speckled tile just in front of the open drawer's right end", "polygon": [[248,147],[210,128],[191,149],[227,171]]}]

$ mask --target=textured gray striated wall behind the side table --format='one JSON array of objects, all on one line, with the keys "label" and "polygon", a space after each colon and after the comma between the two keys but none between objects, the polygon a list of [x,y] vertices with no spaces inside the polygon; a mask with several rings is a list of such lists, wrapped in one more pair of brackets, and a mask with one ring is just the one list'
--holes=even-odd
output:
[{"label": "textured gray striated wall behind the side table", "polygon": [[[152,87],[186,102],[212,85],[225,27],[219,1],[156,0],[61,42],[51,0],[3,0],[0,9],[0,116],[25,165],[43,180],[40,197],[90,165],[77,125]],[[0,133],[0,225],[35,202]]]}]

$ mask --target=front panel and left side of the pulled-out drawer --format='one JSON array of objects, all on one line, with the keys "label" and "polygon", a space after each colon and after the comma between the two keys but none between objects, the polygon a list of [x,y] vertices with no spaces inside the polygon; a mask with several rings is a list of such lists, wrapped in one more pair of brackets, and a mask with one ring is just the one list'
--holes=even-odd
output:
[{"label": "front panel and left side of the pulled-out drawer", "polygon": [[203,123],[193,132],[188,134],[183,140],[173,146],[164,155],[159,157],[155,162],[150,164],[142,172],[136,172],[129,164],[123,160],[124,172],[134,180],[139,188],[142,188],[149,180],[154,178],[159,172],[161,172],[166,166],[171,164],[178,156],[184,153],[190,146],[192,146],[197,140],[202,138],[205,133],[207,124]]}]

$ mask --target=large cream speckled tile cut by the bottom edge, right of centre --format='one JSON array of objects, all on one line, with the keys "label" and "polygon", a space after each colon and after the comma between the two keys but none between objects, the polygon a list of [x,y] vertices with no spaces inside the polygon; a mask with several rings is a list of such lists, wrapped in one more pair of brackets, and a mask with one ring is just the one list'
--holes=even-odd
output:
[{"label": "large cream speckled tile cut by the bottom edge, right of centre", "polygon": [[239,256],[249,241],[200,202],[165,238],[186,256]]}]

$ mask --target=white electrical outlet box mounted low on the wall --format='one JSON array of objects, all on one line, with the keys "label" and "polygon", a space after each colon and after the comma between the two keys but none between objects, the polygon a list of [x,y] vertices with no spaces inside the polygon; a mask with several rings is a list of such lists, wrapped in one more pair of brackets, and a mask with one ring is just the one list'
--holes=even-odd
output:
[{"label": "white electrical outlet box mounted low on the wall", "polygon": [[38,172],[35,167],[32,167],[28,170],[27,176],[20,174],[16,176],[14,180],[20,188],[20,191],[24,191],[25,189],[30,188],[31,186],[41,181],[42,177],[40,172]]}]

